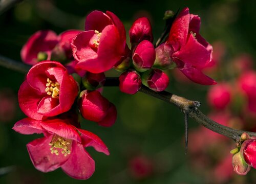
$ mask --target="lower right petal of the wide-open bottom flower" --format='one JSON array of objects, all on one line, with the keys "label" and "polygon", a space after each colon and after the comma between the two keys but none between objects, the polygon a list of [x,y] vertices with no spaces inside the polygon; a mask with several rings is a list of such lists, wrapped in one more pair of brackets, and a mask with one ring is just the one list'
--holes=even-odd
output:
[{"label": "lower right petal of the wide-open bottom flower", "polygon": [[61,169],[75,179],[88,179],[95,171],[95,162],[81,144],[72,144],[68,161]]}]

